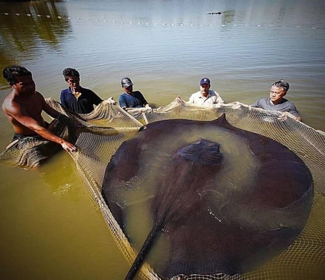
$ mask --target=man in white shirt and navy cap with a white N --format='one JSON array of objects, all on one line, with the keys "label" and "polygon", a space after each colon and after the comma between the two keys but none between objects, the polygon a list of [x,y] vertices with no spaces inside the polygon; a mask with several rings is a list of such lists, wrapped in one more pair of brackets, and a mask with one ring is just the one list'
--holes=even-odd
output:
[{"label": "man in white shirt and navy cap with a white N", "polygon": [[188,102],[204,107],[212,107],[213,104],[225,103],[219,93],[210,89],[210,87],[210,79],[202,78],[200,81],[200,91],[193,93]]}]

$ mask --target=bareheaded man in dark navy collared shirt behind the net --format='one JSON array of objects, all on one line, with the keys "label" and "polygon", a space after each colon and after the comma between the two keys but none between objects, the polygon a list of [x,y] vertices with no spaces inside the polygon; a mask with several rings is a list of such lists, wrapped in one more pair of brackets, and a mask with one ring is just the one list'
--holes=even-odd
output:
[{"label": "bareheaded man in dark navy collared shirt behind the net", "polygon": [[62,73],[69,87],[61,91],[60,100],[70,111],[79,114],[90,113],[94,110],[94,104],[98,105],[103,101],[92,90],[80,86],[80,74],[76,69],[66,68]]}]

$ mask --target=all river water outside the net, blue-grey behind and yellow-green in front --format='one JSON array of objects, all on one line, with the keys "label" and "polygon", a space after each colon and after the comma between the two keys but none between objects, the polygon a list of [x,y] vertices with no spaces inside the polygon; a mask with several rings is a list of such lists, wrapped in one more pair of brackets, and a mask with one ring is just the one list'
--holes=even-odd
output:
[{"label": "all river water outside the net, blue-grey behind and yellow-green in front", "polygon": [[[226,102],[246,104],[283,78],[303,121],[325,131],[324,13],[314,0],[1,3],[0,69],[24,65],[56,99],[66,67],[103,99],[117,100],[128,76],[154,107],[188,100],[203,76]],[[9,89],[1,76],[1,103]],[[0,129],[4,149],[12,128],[3,113]],[[34,171],[0,165],[0,174],[2,278],[123,279],[128,265],[67,153]]]}]

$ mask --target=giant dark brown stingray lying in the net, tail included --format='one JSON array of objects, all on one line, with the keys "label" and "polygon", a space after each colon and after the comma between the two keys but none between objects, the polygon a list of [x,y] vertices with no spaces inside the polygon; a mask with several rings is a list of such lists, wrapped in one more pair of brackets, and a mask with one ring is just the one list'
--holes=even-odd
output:
[{"label": "giant dark brown stingray lying in the net, tail included", "polygon": [[123,142],[102,186],[122,229],[127,194],[141,188],[153,227],[126,279],[159,232],[170,244],[154,267],[162,277],[248,272],[295,240],[313,200],[312,176],[295,153],[231,126],[225,115],[151,123]]}]

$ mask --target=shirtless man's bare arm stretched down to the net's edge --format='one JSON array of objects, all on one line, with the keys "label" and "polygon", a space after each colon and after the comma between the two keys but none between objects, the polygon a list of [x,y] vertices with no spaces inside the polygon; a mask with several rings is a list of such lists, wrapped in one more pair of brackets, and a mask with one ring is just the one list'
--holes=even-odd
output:
[{"label": "shirtless man's bare arm stretched down to the net's edge", "polygon": [[[57,111],[55,111],[55,112],[57,114],[59,114],[59,112],[57,112]],[[34,118],[32,118],[26,112],[26,110],[21,108],[21,106],[19,106],[18,104],[12,104],[12,106],[9,109],[6,108],[6,113],[11,115],[14,119],[16,119],[23,126],[31,129],[32,131],[39,134],[43,138],[60,144],[64,150],[69,151],[69,152],[76,150],[76,147],[74,145],[72,145],[70,142],[63,140],[62,138],[53,134],[51,131],[47,130],[45,127],[42,127],[39,122],[37,122]]]}]

